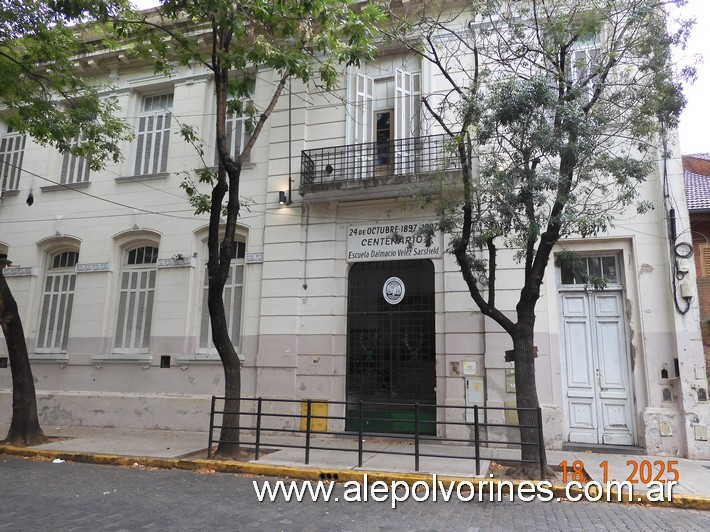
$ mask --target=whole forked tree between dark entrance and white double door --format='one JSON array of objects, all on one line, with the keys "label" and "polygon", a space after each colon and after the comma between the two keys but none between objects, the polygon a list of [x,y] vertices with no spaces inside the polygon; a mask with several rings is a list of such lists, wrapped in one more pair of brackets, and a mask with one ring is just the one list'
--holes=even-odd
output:
[{"label": "whole forked tree between dark entrance and white double door", "polygon": [[[389,30],[448,83],[423,98],[461,167],[439,189],[439,226],[471,298],[512,340],[518,408],[539,407],[535,306],[555,246],[603,233],[632,204],[649,208],[639,187],[684,104],[670,47],[689,26],[669,34],[664,12],[679,3],[474,0],[456,13],[424,3]],[[496,300],[502,250],[522,266],[514,311]],[[519,419],[536,425],[533,412]],[[534,428],[520,433],[532,475],[545,456]]]}]

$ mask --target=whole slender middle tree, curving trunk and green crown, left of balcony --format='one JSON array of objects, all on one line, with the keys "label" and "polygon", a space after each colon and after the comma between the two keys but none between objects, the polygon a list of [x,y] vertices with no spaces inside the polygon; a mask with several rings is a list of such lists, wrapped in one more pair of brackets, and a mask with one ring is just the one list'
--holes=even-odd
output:
[{"label": "whole slender middle tree, curving trunk and green crown, left of balcony", "polygon": [[[196,212],[210,216],[208,308],[212,340],[224,367],[225,396],[231,399],[222,420],[217,450],[221,456],[235,457],[239,450],[240,363],[229,338],[223,291],[235,245],[242,165],[290,79],[329,91],[339,79],[337,64],[358,64],[372,53],[374,23],[381,12],[373,4],[357,10],[350,4],[338,0],[167,0],[157,15],[124,21],[125,29],[138,28],[136,50],[155,58],[156,71],[167,74],[175,63],[201,65],[214,77],[217,170],[206,164],[198,171],[198,181],[211,187],[209,194],[201,193],[201,185],[191,179],[184,188]],[[146,27],[152,31],[146,32]],[[276,71],[278,81],[266,107],[256,109],[245,102],[260,67]],[[250,117],[249,141],[234,156],[226,144],[226,123],[232,113]],[[199,133],[183,126],[182,134],[203,155]]]}]

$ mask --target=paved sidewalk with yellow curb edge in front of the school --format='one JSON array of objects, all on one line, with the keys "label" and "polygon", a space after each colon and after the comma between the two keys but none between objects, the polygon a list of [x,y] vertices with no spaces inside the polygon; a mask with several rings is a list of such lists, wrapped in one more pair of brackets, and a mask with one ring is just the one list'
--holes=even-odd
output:
[{"label": "paved sidewalk with yellow curb edge in front of the school", "polygon": [[[7,433],[8,426],[0,424],[0,433]],[[155,464],[164,467],[183,466],[188,469],[198,469],[214,467],[223,471],[250,472],[254,474],[293,476],[296,478],[322,478],[322,474],[337,474],[343,480],[357,478],[358,474],[368,473],[371,478],[409,478],[431,476],[436,473],[439,477],[450,478],[475,478],[475,463],[472,458],[472,448],[443,444],[422,444],[421,452],[424,454],[446,454],[458,458],[432,458],[421,457],[419,471],[415,471],[414,449],[412,445],[405,445],[388,440],[368,440],[365,444],[366,452],[363,455],[362,467],[357,466],[357,440],[352,438],[317,438],[313,437],[310,451],[309,464],[304,463],[304,449],[282,448],[269,454],[263,454],[258,461],[252,460],[249,463],[230,462],[228,464],[217,461],[207,461],[206,432],[171,432],[161,430],[130,430],[98,427],[51,427],[45,426],[43,430],[47,436],[60,437],[59,441],[53,441],[44,445],[20,450],[18,454],[45,454],[48,456],[59,456],[57,453],[66,453],[68,459],[81,459],[83,461],[96,461],[101,463],[112,463],[110,457],[114,457],[114,463],[127,464],[129,462],[143,463],[144,465]],[[281,444],[298,443],[294,438],[288,436],[281,438],[269,438],[270,442]],[[337,442],[337,445],[336,443]],[[352,452],[334,451],[329,447],[347,447]],[[396,451],[402,454],[378,454],[382,450]],[[16,451],[9,447],[0,446],[0,454]],[[25,452],[26,451],[26,452]],[[195,453],[204,452],[197,455]],[[486,449],[486,452],[493,460],[514,458],[515,452],[511,449]],[[183,457],[190,455],[189,460]],[[94,459],[92,459],[92,457]],[[118,460],[120,458],[121,460]],[[547,451],[548,464],[552,467],[558,466],[562,462],[567,462],[569,470],[568,481],[574,480],[572,477],[573,467],[576,461],[584,464],[584,471],[591,480],[604,482],[605,480],[624,481],[630,475],[634,475],[636,480],[644,481],[644,477],[656,477],[660,467],[666,469],[659,479],[662,481],[673,480],[675,475],[672,471],[667,471],[668,466],[676,469],[678,474],[678,484],[674,487],[674,495],[688,496],[690,499],[699,499],[700,507],[710,509],[710,461],[694,461],[684,458],[672,457],[652,457],[639,455],[621,454],[601,454],[589,452],[572,451]],[[655,464],[653,473],[649,466],[642,463],[649,461]],[[185,462],[184,464],[179,464]],[[606,466],[606,477],[605,469]],[[479,478],[489,478],[490,461],[481,460],[481,475]],[[579,467],[579,465],[578,465]],[[327,477],[331,478],[331,477]],[[655,478],[654,478],[655,479]],[[634,484],[634,489],[643,490],[643,482]],[[686,500],[687,497],[681,497]],[[704,501],[704,502],[703,502]],[[696,501],[697,502],[697,501]],[[678,504],[686,506],[687,504]],[[698,507],[696,504],[695,507]]]}]

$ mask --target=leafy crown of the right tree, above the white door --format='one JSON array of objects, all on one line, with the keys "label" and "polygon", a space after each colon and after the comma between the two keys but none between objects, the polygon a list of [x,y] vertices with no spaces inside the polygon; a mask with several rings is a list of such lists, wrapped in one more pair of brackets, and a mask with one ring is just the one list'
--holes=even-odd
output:
[{"label": "leafy crown of the right tree, above the white door", "polygon": [[[547,241],[595,236],[634,204],[647,212],[639,187],[685,103],[670,48],[689,25],[667,31],[655,0],[476,0],[471,9],[476,23],[457,38],[480,66],[455,87],[465,97],[434,113],[459,117],[458,138],[474,154],[462,164],[473,168],[475,159],[478,168],[469,186],[442,182],[441,229],[460,233],[468,204],[468,252],[485,254],[495,241],[520,250],[530,267],[543,233]],[[409,31],[426,35],[437,24]]]}]

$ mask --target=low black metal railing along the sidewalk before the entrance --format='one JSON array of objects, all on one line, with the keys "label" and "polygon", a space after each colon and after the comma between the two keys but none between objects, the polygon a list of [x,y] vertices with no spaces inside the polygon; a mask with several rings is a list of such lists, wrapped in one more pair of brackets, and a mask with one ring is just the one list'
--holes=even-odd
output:
[{"label": "low black metal railing along the sidewalk before the entrance", "polygon": [[[212,397],[212,407],[210,411],[210,429],[209,429],[209,444],[207,448],[207,457],[210,458],[212,456],[212,446],[215,444],[219,443],[234,443],[230,442],[228,440],[220,440],[218,437],[215,437],[215,431],[221,430],[222,428],[225,428],[224,425],[218,424],[216,422],[216,416],[221,416],[225,413],[224,406],[222,406],[221,409],[217,409],[217,403],[221,402],[222,405],[226,404],[229,401],[236,401],[236,399],[232,398],[226,398],[226,397]],[[269,409],[268,411],[265,410],[264,404],[268,404]],[[305,412],[303,412],[302,405],[305,403]],[[313,405],[314,403],[319,403],[319,404],[327,404],[327,411],[331,412],[332,408],[331,407],[342,407],[342,410],[345,412],[343,415],[316,415],[313,413]],[[235,428],[239,429],[240,431],[240,445],[246,445],[246,446],[253,446],[254,448],[254,458],[256,460],[259,460],[261,450],[262,448],[294,448],[294,449],[303,449],[304,450],[304,463],[306,465],[309,464],[310,462],[310,455],[312,450],[324,450],[324,451],[341,451],[341,452],[357,452],[357,464],[358,467],[362,467],[363,464],[363,455],[364,453],[372,453],[372,454],[387,454],[387,455],[403,455],[403,456],[412,456],[414,458],[414,470],[419,471],[419,464],[420,464],[420,458],[426,457],[426,458],[451,458],[451,459],[456,459],[456,460],[462,460],[462,459],[470,459],[475,463],[475,470],[476,470],[476,475],[481,474],[481,461],[482,460],[500,460],[500,461],[505,461],[505,462],[515,462],[515,463],[534,463],[534,464],[539,464],[540,466],[540,471],[541,471],[541,477],[544,478],[544,470],[545,470],[545,464],[544,464],[544,437],[543,437],[543,430],[542,430],[542,410],[540,408],[507,408],[507,407],[482,407],[482,406],[473,406],[473,407],[466,407],[466,406],[443,406],[443,405],[425,405],[425,404],[419,404],[419,403],[397,403],[396,405],[393,405],[391,403],[370,403],[370,402],[363,402],[363,401],[358,401],[356,403],[353,402],[346,402],[346,401],[312,401],[312,400],[292,400],[292,399],[265,399],[262,397],[257,397],[257,398],[242,398],[241,399],[241,415],[240,419],[244,421],[245,419],[248,420],[246,422],[240,421],[240,424],[238,426],[227,426],[226,428]],[[249,408],[245,409],[244,406],[249,405]],[[363,411],[365,409],[369,409],[371,407],[378,407],[378,406],[398,406],[398,407],[411,407],[414,413],[414,430],[413,433],[411,434],[402,434],[402,433],[388,433],[386,434],[386,437],[388,439],[392,440],[399,440],[399,441],[404,441],[404,442],[409,442],[413,444],[413,451],[402,451],[402,450],[390,450],[390,449],[376,449],[376,448],[366,448],[367,440],[368,438],[370,439],[370,442],[372,442],[373,439],[376,439],[378,441],[381,441],[383,434],[381,432],[372,432],[372,431],[367,431],[365,430],[364,426],[364,417],[363,417]],[[439,420],[431,420],[429,418],[426,418],[425,420],[420,419],[421,418],[421,412],[424,408],[427,409],[435,409],[437,412],[440,412],[444,414],[446,411],[451,413],[452,411],[461,411],[461,410],[472,410],[473,411],[473,420],[470,422],[469,420],[466,420],[466,414],[464,412],[463,419],[465,421],[445,421],[443,419]],[[300,411],[299,411],[300,409]],[[248,410],[245,412],[244,410]],[[493,412],[515,412],[518,415],[522,412],[534,412],[535,413],[535,420],[536,422],[532,425],[522,425],[519,423],[497,423],[497,422],[489,422],[488,418]],[[318,442],[312,441],[312,438],[314,435],[316,436],[335,436],[343,435],[343,431],[329,431],[328,429],[328,424],[332,422],[338,422],[339,424],[342,424],[344,426],[345,420],[347,416],[352,416],[356,415],[357,416],[357,426],[358,430],[357,433],[352,432],[353,436],[357,434],[357,449],[353,449],[352,447],[338,447],[337,442],[339,440],[331,440],[328,442],[327,446],[323,446],[322,444],[318,444]],[[444,415],[437,416],[437,418],[444,418]],[[293,420],[295,421],[298,426],[293,426],[292,428],[288,428],[287,425],[288,423],[276,423],[273,424],[273,426],[266,427],[264,425],[264,420],[272,419],[272,418],[280,418],[281,421],[283,420]],[[313,430],[313,422],[321,420],[325,421],[325,430],[318,430],[315,431]],[[371,417],[368,418],[369,421],[373,421]],[[375,419],[374,421],[385,421],[384,419]],[[305,423],[304,423],[305,422]],[[455,426],[463,426],[463,427],[473,427],[473,437],[468,437],[468,438],[456,438],[453,436],[432,436],[432,435],[427,435],[422,433],[422,424],[431,424],[434,423],[437,427],[438,426],[450,426],[450,427],[455,427]],[[303,428],[305,426],[305,428]],[[491,434],[491,431],[488,429],[491,428],[503,428],[503,429],[535,429],[537,431],[537,441],[535,442],[522,442],[519,440],[504,440],[504,439],[492,439],[493,436]],[[486,431],[486,436],[482,435],[482,429]],[[462,432],[469,432],[470,431],[467,429],[466,431]],[[519,430],[515,430],[515,433],[518,433],[519,435]],[[290,435],[304,435],[305,436],[305,441],[301,442],[299,441],[298,438],[293,438],[293,440],[289,440],[287,443],[284,443],[283,441],[269,441],[269,437],[287,433]],[[348,433],[346,433],[348,434]],[[342,441],[342,440],[340,440]],[[461,446],[465,446],[464,448],[471,447],[471,454],[468,456],[460,456],[452,453],[434,453],[434,452],[424,452],[421,449],[421,445],[426,442],[437,442],[437,443],[454,443],[454,444],[459,444]],[[535,460],[526,460],[523,459],[522,456],[521,458],[496,458],[492,456],[493,448],[497,447],[500,448],[502,446],[506,447],[513,447],[513,448],[519,448],[521,450],[521,455],[524,454],[522,453],[522,449],[526,446],[536,446],[538,447],[538,453],[539,453],[539,459]],[[445,447],[442,447],[442,449]]]}]

